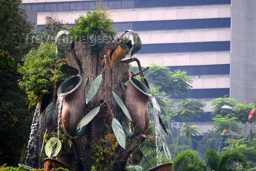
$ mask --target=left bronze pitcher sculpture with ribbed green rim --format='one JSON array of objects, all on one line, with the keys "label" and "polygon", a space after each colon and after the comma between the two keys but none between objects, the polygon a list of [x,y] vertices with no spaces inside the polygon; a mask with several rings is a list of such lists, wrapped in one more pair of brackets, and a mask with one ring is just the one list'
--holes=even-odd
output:
[{"label": "left bronze pitcher sculpture with ribbed green rim", "polygon": [[57,91],[58,96],[65,96],[61,119],[64,130],[71,137],[78,135],[82,137],[86,129],[86,127],[80,128],[79,131],[76,129],[85,107],[84,91],[81,84],[82,77],[75,75],[61,84]]}]

